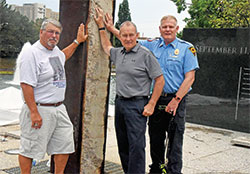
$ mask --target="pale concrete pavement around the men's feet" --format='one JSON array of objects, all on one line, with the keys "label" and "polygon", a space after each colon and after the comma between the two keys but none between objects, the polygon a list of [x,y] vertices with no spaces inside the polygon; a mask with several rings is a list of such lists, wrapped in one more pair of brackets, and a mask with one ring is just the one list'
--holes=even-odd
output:
[{"label": "pale concrete pavement around the men's feet", "polygon": [[[113,123],[114,117],[109,117],[106,161],[120,165]],[[0,127],[0,174],[6,174],[6,172],[3,171],[4,169],[18,166],[17,155],[10,155],[5,151],[19,147],[19,133],[18,125]],[[4,135],[7,138],[5,141]],[[250,174],[250,148],[236,146],[231,143],[232,140],[238,137],[249,139],[250,135],[242,132],[187,123],[184,137],[183,173]],[[148,171],[148,165],[151,163],[151,160],[148,135],[146,138],[146,170]],[[48,158],[49,157],[46,156],[45,160]]]}]

